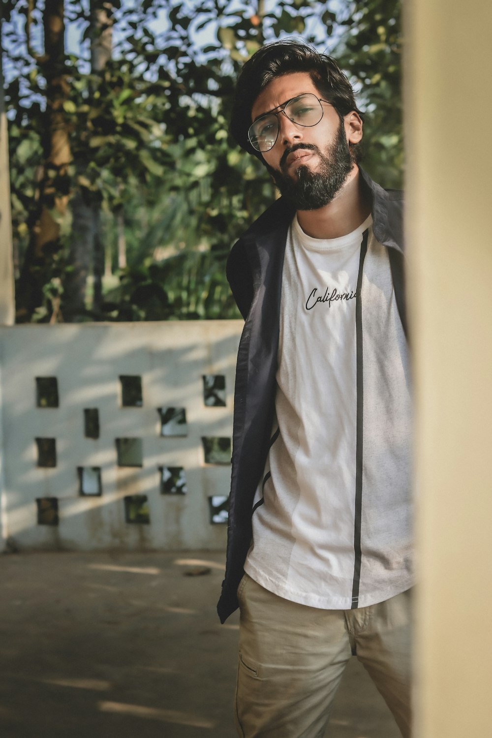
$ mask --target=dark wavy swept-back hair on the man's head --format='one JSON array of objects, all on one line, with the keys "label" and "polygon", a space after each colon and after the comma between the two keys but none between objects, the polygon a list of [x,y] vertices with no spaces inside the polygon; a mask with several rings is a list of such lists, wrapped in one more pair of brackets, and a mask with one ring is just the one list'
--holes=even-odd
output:
[{"label": "dark wavy swept-back hair on the man's head", "polygon": [[[229,125],[229,131],[240,147],[258,159],[263,157],[248,139],[254,100],[274,77],[292,72],[308,72],[319,94],[333,105],[340,118],[350,111],[356,111],[363,117],[356,105],[352,85],[332,57],[317,52],[313,46],[302,41],[285,40],[266,44],[244,63],[239,72]],[[360,159],[358,146],[350,145],[356,162]]]}]

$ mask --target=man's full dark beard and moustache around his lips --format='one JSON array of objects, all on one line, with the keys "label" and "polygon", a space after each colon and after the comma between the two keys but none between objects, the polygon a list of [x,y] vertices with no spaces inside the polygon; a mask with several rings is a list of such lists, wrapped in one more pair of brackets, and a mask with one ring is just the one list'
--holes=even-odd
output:
[{"label": "man's full dark beard and moustache around his lips", "polygon": [[[311,170],[300,165],[294,176],[286,173],[285,160],[288,154],[303,148],[315,151],[319,156],[319,168]],[[328,205],[342,189],[347,176],[353,169],[355,159],[350,151],[345,135],[344,123],[341,120],[336,139],[322,152],[310,143],[298,143],[284,151],[280,159],[280,171],[266,165],[274,178],[275,184],[296,210],[318,210]]]}]

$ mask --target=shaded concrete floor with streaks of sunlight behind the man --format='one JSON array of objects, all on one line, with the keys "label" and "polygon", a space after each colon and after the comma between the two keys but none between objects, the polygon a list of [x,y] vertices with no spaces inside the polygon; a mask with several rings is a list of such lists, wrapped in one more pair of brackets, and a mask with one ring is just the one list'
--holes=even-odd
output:
[{"label": "shaded concrete floor with streaks of sunlight behind the man", "polygon": [[[224,626],[215,613],[223,562],[0,556],[1,738],[234,738],[238,613]],[[399,735],[353,658],[327,737]]]}]

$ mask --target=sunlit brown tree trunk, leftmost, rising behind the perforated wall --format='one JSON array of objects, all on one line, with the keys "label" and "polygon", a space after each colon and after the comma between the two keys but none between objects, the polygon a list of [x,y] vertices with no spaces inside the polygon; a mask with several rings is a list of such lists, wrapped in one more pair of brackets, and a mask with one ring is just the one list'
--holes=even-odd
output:
[{"label": "sunlit brown tree trunk, leftmost, rising behind the perforated wall", "polygon": [[44,123],[44,170],[39,187],[38,208],[30,218],[30,243],[18,279],[17,320],[32,318],[43,303],[43,287],[59,278],[53,255],[62,246],[61,231],[69,227],[69,131],[63,103],[69,87],[65,74],[65,24],[63,0],[46,0],[43,15],[44,57],[38,60],[46,79]]}]

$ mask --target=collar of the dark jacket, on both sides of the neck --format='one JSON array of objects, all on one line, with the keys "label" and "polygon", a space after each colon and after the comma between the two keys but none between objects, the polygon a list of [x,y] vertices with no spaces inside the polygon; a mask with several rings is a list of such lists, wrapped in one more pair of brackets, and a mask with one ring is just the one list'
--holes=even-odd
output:
[{"label": "collar of the dark jacket, on both sides of the neck", "polygon": [[[399,190],[384,190],[380,184],[359,167],[362,180],[370,191],[372,200],[373,232],[380,244],[403,252],[403,231],[401,228],[402,196]],[[280,197],[265,210],[245,232],[247,241],[256,241],[276,231],[285,230],[291,223],[296,210],[285,198]]]}]

